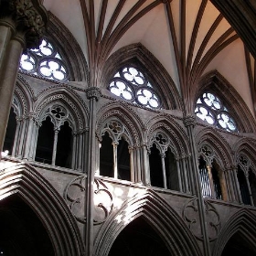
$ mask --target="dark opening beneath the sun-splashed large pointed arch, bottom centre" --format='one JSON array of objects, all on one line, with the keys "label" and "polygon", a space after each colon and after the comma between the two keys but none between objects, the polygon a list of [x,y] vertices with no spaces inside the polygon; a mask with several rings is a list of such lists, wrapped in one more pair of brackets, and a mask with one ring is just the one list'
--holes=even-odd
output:
[{"label": "dark opening beneath the sun-splashed large pointed arch, bottom centre", "polygon": [[113,242],[109,256],[169,256],[165,242],[143,218],[134,219]]}]

